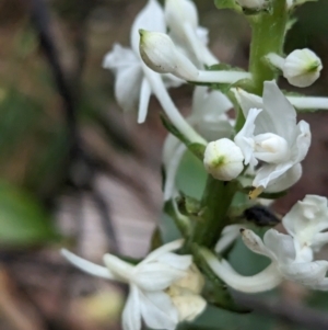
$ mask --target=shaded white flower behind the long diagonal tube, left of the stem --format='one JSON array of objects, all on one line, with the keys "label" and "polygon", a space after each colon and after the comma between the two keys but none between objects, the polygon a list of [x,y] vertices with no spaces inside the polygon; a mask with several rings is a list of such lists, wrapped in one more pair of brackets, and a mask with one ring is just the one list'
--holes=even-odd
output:
[{"label": "shaded white flower behind the long diagonal tube, left of the stem", "polygon": [[[226,111],[233,104],[220,91],[209,91],[207,87],[196,87],[192,96],[191,114],[187,122],[206,139],[231,137],[234,121],[230,120]],[[168,201],[176,193],[175,177],[186,146],[172,134],[164,143],[163,164],[165,169],[164,201]]]}]

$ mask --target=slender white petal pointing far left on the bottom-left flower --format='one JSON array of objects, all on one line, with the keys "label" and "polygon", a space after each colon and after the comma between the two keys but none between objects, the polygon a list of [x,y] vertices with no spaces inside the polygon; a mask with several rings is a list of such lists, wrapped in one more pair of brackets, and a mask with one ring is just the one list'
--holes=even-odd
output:
[{"label": "slender white petal pointing far left on the bottom-left flower", "polygon": [[95,263],[92,263],[85,259],[82,259],[66,249],[61,249],[61,254],[70,263],[72,263],[74,266],[77,266],[78,269],[80,269],[81,271],[83,271],[87,274],[91,274],[91,275],[94,275],[97,277],[108,278],[108,280],[119,280],[108,269],[97,265]]}]

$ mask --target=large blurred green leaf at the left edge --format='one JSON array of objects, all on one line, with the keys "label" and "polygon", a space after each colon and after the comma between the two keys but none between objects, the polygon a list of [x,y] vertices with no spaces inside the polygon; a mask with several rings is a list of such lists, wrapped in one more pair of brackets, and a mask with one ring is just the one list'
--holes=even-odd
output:
[{"label": "large blurred green leaf at the left edge", "polygon": [[58,237],[49,214],[37,200],[17,186],[0,182],[0,246],[21,248]]}]

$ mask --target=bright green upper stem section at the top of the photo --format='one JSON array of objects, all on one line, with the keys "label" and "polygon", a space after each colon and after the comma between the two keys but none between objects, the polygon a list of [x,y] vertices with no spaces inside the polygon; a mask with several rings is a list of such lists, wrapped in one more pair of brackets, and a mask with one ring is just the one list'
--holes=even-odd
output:
[{"label": "bright green upper stem section at the top of the photo", "polygon": [[285,0],[272,0],[271,12],[251,16],[249,71],[253,73],[254,87],[249,92],[261,95],[263,82],[277,78],[263,57],[269,53],[282,54],[288,16]]}]

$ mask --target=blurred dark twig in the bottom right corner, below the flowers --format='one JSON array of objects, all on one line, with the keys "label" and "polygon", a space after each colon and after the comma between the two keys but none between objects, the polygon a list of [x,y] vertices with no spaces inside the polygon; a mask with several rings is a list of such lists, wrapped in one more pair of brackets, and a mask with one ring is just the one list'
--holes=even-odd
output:
[{"label": "blurred dark twig in the bottom right corner, below the flowers", "polygon": [[288,301],[268,301],[250,295],[234,294],[235,300],[261,315],[277,317],[302,328],[311,330],[327,330],[328,315],[312,308]]}]

